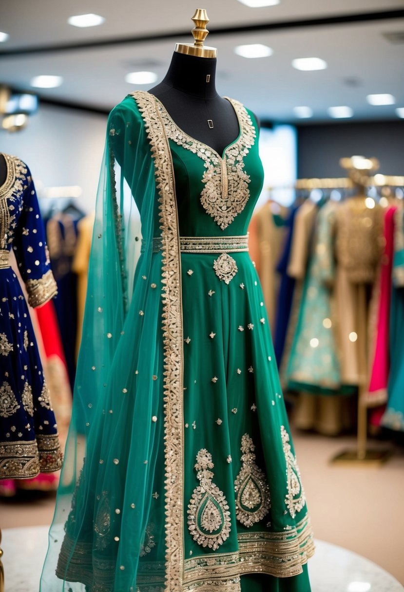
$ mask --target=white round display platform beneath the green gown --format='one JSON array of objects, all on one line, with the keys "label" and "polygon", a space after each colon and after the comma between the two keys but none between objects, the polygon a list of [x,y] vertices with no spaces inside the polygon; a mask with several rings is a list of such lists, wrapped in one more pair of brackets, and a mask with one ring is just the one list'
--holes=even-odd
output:
[{"label": "white round display platform beneath the green gown", "polygon": [[[47,526],[2,532],[5,590],[38,592],[47,549]],[[323,540],[309,561],[312,592],[401,592],[404,587],[372,561]]]}]

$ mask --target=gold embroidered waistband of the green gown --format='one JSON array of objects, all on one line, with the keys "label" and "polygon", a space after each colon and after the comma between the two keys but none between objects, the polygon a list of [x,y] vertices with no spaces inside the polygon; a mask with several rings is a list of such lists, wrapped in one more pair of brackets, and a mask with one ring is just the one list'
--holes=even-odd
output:
[{"label": "gold embroidered waistband of the green gown", "polygon": [[[248,251],[248,234],[244,236],[180,236],[181,253],[242,253]],[[162,250],[161,239],[153,239],[153,253]]]}]

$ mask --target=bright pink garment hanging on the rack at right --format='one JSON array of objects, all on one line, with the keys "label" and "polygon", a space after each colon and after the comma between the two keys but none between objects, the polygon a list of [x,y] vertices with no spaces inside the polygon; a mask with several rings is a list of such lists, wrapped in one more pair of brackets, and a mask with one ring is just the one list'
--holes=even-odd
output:
[{"label": "bright pink garment hanging on the rack at right", "polygon": [[[390,207],[384,215],[384,252],[380,269],[380,298],[377,311],[376,348],[371,368],[370,384],[367,393],[368,406],[377,406],[387,401],[387,382],[389,381],[389,329],[390,299],[392,295],[392,263],[394,249],[394,213],[396,206]],[[380,416],[375,414],[374,419]],[[380,417],[379,417],[380,420]],[[374,424],[374,421],[371,423]]]}]

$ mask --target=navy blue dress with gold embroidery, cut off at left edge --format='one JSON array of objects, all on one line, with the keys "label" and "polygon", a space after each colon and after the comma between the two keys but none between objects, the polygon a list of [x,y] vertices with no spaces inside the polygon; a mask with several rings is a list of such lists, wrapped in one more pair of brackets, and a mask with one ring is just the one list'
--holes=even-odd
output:
[{"label": "navy blue dress with gold embroidery, cut off at left edge", "polygon": [[0,478],[36,477],[62,466],[56,421],[43,376],[30,314],[9,266],[14,250],[37,307],[57,293],[37,195],[27,165],[3,155],[0,186]]}]

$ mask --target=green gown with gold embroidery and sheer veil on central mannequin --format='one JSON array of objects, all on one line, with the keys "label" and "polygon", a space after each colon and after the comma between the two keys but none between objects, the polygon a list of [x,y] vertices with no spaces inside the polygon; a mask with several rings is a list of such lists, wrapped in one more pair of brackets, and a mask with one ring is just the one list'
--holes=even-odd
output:
[{"label": "green gown with gold embroidery and sheer veil on central mannequin", "polygon": [[[310,591],[306,499],[264,298],[246,249],[263,179],[258,129],[254,115],[231,102],[240,133],[223,155],[187,136],[146,92],[127,96],[111,112],[110,159],[124,170],[120,146],[132,149],[128,130],[135,128],[136,150],[152,148],[161,206],[150,209],[145,273],[143,222],[132,303],[111,361],[124,377],[116,372],[99,422],[91,415],[96,398],[83,394],[79,379],[81,411],[95,427],[91,432],[81,417],[76,429],[76,442],[86,440],[85,463],[71,506],[61,485],[42,592]],[[125,177],[134,195],[134,182]],[[138,207],[144,217],[147,204]],[[101,234],[96,229],[93,242]],[[147,297],[140,308],[133,301],[142,287]],[[99,304],[88,307],[98,307],[102,317]],[[141,345],[132,355],[128,349],[129,333],[136,336],[145,323],[149,343],[157,344],[151,360]],[[97,363],[92,371],[97,374]],[[111,369],[102,380],[105,392]]]}]

